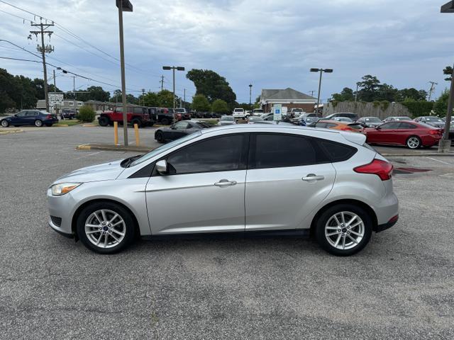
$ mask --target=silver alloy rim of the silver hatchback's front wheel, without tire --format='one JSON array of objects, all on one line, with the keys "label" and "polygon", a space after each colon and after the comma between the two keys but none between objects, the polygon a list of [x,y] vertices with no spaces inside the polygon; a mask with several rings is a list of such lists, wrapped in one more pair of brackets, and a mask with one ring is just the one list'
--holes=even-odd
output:
[{"label": "silver alloy rim of the silver hatchback's front wheel, without tire", "polygon": [[126,235],[126,223],[117,212],[101,209],[92,212],[85,221],[85,234],[89,242],[99,248],[112,248]]}]

